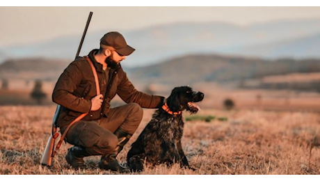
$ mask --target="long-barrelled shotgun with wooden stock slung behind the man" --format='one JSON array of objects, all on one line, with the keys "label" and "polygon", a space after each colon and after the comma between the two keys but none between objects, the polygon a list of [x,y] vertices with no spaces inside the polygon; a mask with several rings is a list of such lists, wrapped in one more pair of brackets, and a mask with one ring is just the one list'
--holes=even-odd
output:
[{"label": "long-barrelled shotgun with wooden stock slung behind the man", "polygon": [[[78,48],[78,51],[77,51],[77,55],[74,58],[74,60],[79,57],[79,53],[81,51],[83,40],[86,37],[86,33],[87,33],[88,26],[90,24],[90,20],[91,20],[92,16],[93,16],[93,12],[90,12],[88,20],[87,20],[87,23],[86,23],[86,27],[85,27],[85,29],[83,31],[83,34],[82,34],[82,38],[81,38],[80,45],[79,45],[79,48]],[[58,104],[57,107],[56,107],[56,112],[54,113],[54,118],[52,120],[51,135],[50,135],[50,137],[49,137],[49,139],[47,141],[47,145],[46,145],[45,150],[44,150],[44,152],[42,154],[41,164],[43,166],[53,166],[52,159],[54,157],[54,155],[53,155],[53,153],[54,153],[54,143],[56,141],[56,138],[59,136],[59,133],[56,132],[56,130],[57,130],[57,120],[58,120],[60,111],[61,111],[61,105]]]}]

